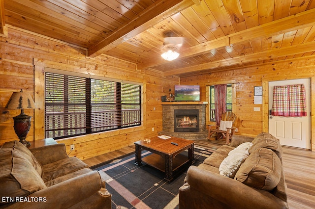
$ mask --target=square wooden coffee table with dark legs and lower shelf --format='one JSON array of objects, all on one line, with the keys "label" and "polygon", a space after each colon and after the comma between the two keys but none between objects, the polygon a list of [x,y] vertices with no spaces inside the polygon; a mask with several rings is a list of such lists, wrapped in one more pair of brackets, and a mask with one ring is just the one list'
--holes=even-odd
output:
[{"label": "square wooden coffee table with dark legs and lower shelf", "polygon": [[[194,141],[177,137],[161,139],[158,136],[148,138],[151,142],[144,140],[134,142],[135,164],[142,165],[142,161],[158,170],[165,172],[165,179],[171,181],[175,172],[187,162],[191,165],[194,162],[193,145]],[[178,144],[171,144],[172,142]],[[141,159],[142,149],[153,154]],[[188,155],[184,153],[188,149]]]}]

